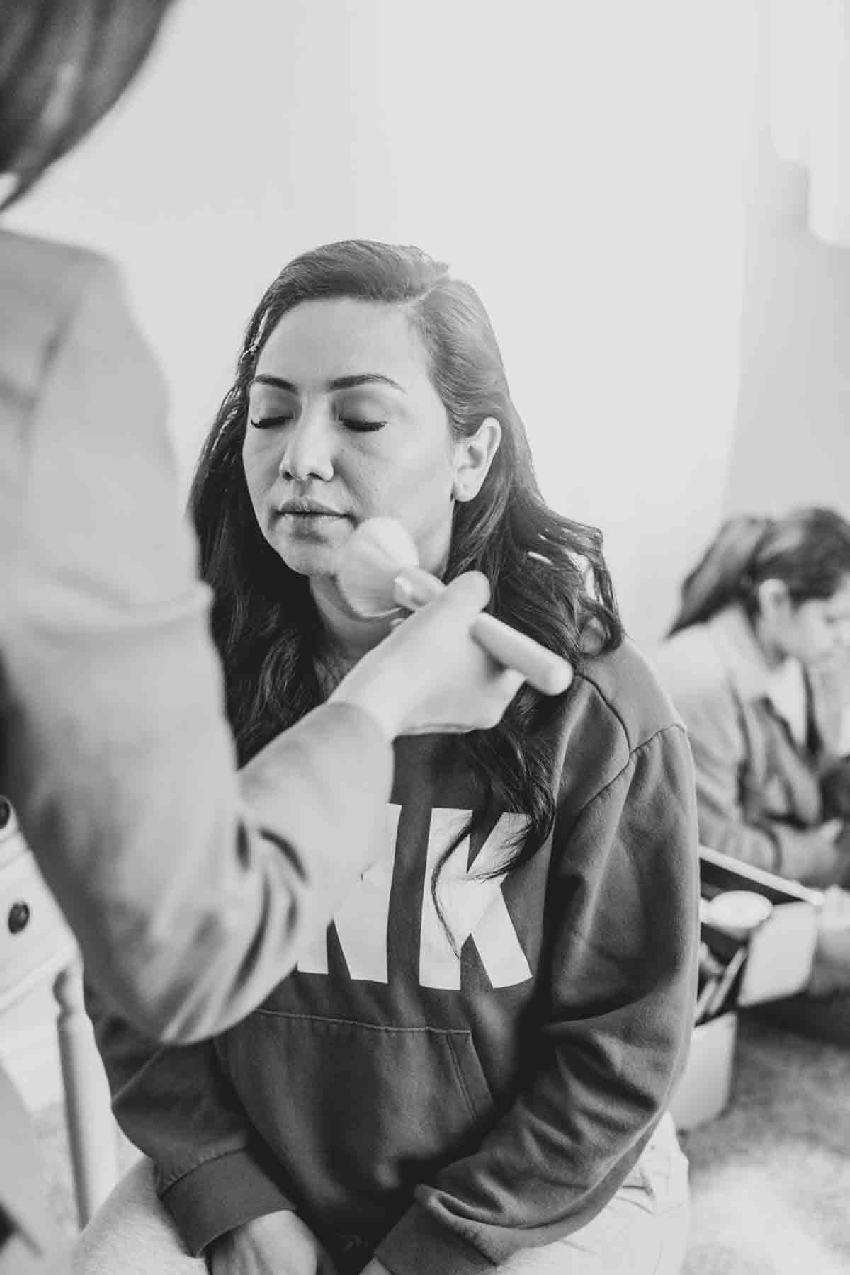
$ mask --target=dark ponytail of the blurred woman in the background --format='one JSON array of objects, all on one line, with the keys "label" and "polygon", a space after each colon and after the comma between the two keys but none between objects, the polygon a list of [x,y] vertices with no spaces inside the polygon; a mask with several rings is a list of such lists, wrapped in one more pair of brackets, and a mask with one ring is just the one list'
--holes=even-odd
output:
[{"label": "dark ponytail of the blurred woman in the background", "polygon": [[728,519],[682,585],[679,611],[668,636],[701,625],[753,589],[752,569],[775,523],[742,514]]}]

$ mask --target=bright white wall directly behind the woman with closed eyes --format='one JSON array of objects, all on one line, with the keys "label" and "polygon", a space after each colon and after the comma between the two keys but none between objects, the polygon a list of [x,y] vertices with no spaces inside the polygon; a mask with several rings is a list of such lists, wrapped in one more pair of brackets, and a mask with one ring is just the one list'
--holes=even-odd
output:
[{"label": "bright white wall directly behind the woman with closed eyes", "polygon": [[125,266],[184,472],[296,251],[418,242],[480,291],[548,499],[658,635],[734,416],[751,0],[184,0],[15,214]]}]

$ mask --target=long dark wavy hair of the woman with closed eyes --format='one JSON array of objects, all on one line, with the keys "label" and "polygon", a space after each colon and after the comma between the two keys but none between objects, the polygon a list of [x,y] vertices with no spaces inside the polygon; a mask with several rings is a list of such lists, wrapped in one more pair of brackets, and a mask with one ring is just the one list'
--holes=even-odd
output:
[{"label": "long dark wavy hair of the woman with closed eyes", "polygon": [[[320,699],[312,662],[319,621],[307,580],[263,537],[245,481],[249,386],[282,315],[303,301],[339,297],[405,306],[455,436],[474,433],[487,417],[502,426],[502,444],[480,492],[455,506],[446,579],[483,571],[492,586],[491,609],[579,667],[589,632],[595,650],[613,649],[623,635],[600,532],[554,513],[539,492],[525,428],[478,295],[415,247],[330,244],[291,261],[260,301],[190,492],[200,569],[214,590],[213,634],[241,761]],[[498,727],[455,740],[486,793],[486,808],[473,826],[500,808],[530,817],[511,867],[530,858],[552,827],[553,759],[538,728],[556,708],[525,686]]]}]

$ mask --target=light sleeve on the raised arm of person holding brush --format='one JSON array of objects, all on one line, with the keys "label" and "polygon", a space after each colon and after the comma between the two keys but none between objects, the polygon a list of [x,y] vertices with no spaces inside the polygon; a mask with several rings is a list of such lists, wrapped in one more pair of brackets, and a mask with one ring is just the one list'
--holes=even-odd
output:
[{"label": "light sleeve on the raised arm of person holding brush", "polygon": [[83,274],[20,425],[4,785],[89,975],[147,1033],[195,1039],[271,991],[326,922],[328,878],[368,862],[391,750],[326,709],[237,775],[161,379],[115,272]]}]

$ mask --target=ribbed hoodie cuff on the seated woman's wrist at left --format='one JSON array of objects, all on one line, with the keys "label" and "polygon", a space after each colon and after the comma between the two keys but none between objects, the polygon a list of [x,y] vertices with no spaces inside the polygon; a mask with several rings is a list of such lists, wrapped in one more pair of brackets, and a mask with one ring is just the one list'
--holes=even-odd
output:
[{"label": "ribbed hoodie cuff on the seated woman's wrist at left", "polygon": [[247,1151],[233,1151],[200,1164],[161,1193],[192,1257],[219,1235],[254,1218],[284,1209],[292,1201]]}]

